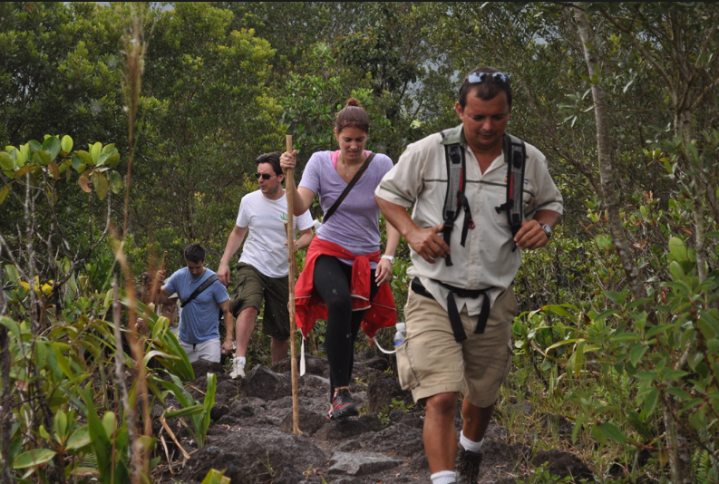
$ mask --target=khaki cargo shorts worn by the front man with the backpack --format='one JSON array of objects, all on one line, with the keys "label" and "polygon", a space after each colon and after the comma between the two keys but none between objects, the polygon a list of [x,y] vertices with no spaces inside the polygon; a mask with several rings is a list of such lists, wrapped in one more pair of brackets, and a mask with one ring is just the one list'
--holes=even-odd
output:
[{"label": "khaki cargo shorts worn by the front man with the backpack", "polygon": [[511,287],[491,307],[483,334],[474,334],[478,315],[462,309],[467,339],[457,343],[447,312],[437,301],[410,288],[404,315],[407,337],[397,346],[397,369],[414,402],[444,392],[462,392],[472,405],[486,408],[497,401],[510,373],[511,324],[519,314]]}]

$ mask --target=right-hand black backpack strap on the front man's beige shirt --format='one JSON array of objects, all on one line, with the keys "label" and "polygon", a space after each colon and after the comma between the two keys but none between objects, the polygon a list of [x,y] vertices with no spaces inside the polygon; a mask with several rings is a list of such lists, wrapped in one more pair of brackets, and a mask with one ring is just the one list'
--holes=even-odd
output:
[{"label": "right-hand black backpack strap on the front man's beige shirt", "polygon": [[[507,201],[495,207],[497,213],[507,211],[511,235],[517,235],[524,220],[524,166],[527,160],[527,148],[524,141],[516,136],[504,133],[504,160],[507,161]],[[515,246],[512,250],[515,250]]]}]

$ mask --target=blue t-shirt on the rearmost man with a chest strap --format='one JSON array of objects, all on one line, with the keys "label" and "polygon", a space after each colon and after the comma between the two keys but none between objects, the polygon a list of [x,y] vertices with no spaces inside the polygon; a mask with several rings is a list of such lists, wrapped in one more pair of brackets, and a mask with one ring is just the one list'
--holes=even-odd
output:
[{"label": "blue t-shirt on the rearmost man with a chest strap", "polygon": [[[170,276],[165,289],[180,295],[180,301],[186,301],[214,271],[205,268],[205,274],[197,279],[190,276],[189,269],[182,267]],[[182,308],[180,319],[180,340],[189,344],[205,343],[219,338],[219,305],[229,299],[228,290],[221,282],[215,281],[189,305]]]}]

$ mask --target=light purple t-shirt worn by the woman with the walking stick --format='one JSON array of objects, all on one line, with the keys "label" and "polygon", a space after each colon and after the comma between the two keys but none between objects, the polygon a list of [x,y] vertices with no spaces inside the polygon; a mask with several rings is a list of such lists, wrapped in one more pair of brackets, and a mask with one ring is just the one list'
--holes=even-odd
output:
[{"label": "light purple t-shirt worn by the woman with the walking stick", "polygon": [[[317,151],[307,161],[300,187],[319,195],[319,204],[327,212],[347,187],[330,158],[331,151]],[[380,209],[374,202],[374,189],[393,167],[387,155],[377,153],[359,181],[326,223],[317,230],[317,237],[345,247],[364,256],[380,249]],[[375,266],[374,264],[372,266]]]}]

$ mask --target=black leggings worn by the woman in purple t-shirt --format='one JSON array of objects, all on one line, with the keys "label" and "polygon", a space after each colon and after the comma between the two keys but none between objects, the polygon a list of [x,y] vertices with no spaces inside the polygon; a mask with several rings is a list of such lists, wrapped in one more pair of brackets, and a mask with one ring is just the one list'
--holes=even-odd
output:
[{"label": "black leggings worn by the woman in purple t-shirt", "polygon": [[[370,300],[377,294],[372,270]],[[329,362],[330,401],[335,387],[349,386],[355,364],[355,339],[365,311],[352,310],[352,266],[337,257],[320,256],[315,263],[315,290],[327,305],[325,353]]]}]

